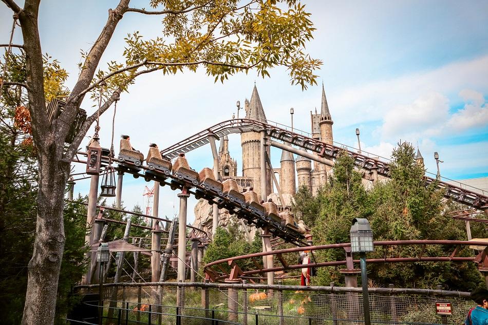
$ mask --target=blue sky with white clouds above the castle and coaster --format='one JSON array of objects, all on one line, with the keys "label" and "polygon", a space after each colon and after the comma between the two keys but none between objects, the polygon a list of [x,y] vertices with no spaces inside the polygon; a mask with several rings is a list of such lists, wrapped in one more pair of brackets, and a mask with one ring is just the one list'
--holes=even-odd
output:
[{"label": "blue sky with white clouds above the castle and coaster", "polygon": [[[319,86],[302,91],[291,86],[286,70],[275,68],[271,78],[255,72],[214,84],[202,71],[163,76],[145,75],[122,94],[115,134],[131,136],[145,152],[149,142],[171,145],[236,111],[235,102],[250,98],[254,81],[268,119],[289,124],[295,110],[296,128],[309,130],[310,110],[320,109],[324,82],[334,120],[334,140],[356,145],[354,130],[361,129],[364,150],[389,157],[401,139],[419,145],[429,171],[435,171],[433,152],[444,163],[441,174],[452,179],[488,176],[488,2],[486,1],[304,1],[317,30],[307,50],[323,60]],[[80,50],[88,50],[116,1],[80,3],[45,1],[41,4],[40,34],[43,51],[57,58],[70,73],[78,74]],[[148,7],[146,1],[132,7]],[[160,34],[160,17],[128,13],[117,27],[103,57],[120,58],[123,37],[139,30]],[[0,27],[8,41],[11,13],[0,5]],[[15,35],[21,42],[20,30]],[[105,67],[105,63],[101,65]],[[91,111],[91,103],[83,105]],[[111,114],[102,117],[101,141],[109,147]],[[230,137],[231,155],[241,169],[239,136]],[[118,144],[116,144],[116,148]],[[279,165],[279,151],[272,152]],[[212,165],[210,148],[192,152],[195,169]],[[146,183],[126,178],[124,201],[143,204]],[[76,189],[86,193],[87,181]],[[176,203],[175,203],[176,202]],[[163,188],[160,215],[172,216],[176,194]],[[192,214],[189,213],[191,219]]]}]

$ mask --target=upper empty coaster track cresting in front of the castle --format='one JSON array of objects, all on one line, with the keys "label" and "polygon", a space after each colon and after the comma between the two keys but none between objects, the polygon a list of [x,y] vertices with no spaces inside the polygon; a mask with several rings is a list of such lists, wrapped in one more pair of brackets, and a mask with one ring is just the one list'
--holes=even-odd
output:
[{"label": "upper empty coaster track cresting in front of the castle", "polygon": [[[390,176],[389,163],[380,160],[378,157],[372,158],[369,157],[369,155],[359,154],[358,152],[345,147],[339,147],[312,139],[309,133],[298,130],[292,132],[284,125],[271,125],[250,119],[234,119],[215,124],[208,129],[202,130],[189,138],[161,150],[161,155],[167,159],[173,159],[179,154],[184,154],[209,143],[209,137],[212,136],[221,138],[230,133],[250,131],[260,132],[262,130],[266,132],[268,138],[273,138],[302,149],[307,149],[327,160],[336,159],[341,151],[346,150],[354,159],[356,167],[369,171],[370,173],[377,173],[378,175],[387,178]],[[271,143],[271,145],[273,144]],[[459,186],[456,186],[447,181],[436,180],[435,178],[428,176],[425,176],[424,180],[426,186],[435,183],[436,186],[442,190],[445,198],[452,199],[453,201],[485,212],[488,211],[488,193],[485,193],[480,189],[462,183],[458,183]],[[480,191],[482,194],[479,193]]]}]

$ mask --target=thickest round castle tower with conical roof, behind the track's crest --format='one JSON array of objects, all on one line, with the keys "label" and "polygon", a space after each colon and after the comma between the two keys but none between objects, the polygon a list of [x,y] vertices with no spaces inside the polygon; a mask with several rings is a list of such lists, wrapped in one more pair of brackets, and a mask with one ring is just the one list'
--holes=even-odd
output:
[{"label": "thickest round castle tower with conical roof, behind the track's crest", "polygon": [[[246,119],[267,122],[256,85],[254,85],[251,100],[248,101],[246,99],[244,108],[246,110]],[[240,141],[242,146],[242,176],[253,179],[254,191],[258,195],[258,198],[261,198],[260,135],[258,132],[241,133]],[[269,156],[270,148],[268,147],[266,151]],[[272,192],[271,178],[271,170],[267,166],[266,196]]]}]

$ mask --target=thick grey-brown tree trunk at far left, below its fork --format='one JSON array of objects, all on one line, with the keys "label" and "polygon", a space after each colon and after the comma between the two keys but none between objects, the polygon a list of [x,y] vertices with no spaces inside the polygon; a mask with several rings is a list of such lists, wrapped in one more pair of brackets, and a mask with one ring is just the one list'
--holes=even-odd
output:
[{"label": "thick grey-brown tree trunk at far left, below its fork", "polygon": [[69,164],[49,156],[39,161],[34,251],[29,262],[22,324],[52,324],[64,251],[63,202]]}]

